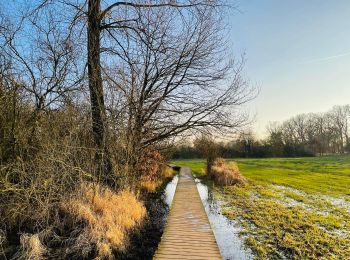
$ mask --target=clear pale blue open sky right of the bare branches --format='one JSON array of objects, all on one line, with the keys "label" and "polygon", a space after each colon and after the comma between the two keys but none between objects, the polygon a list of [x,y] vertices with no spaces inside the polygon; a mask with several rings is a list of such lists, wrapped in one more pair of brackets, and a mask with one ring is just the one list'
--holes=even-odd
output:
[{"label": "clear pale blue open sky right of the bare branches", "polygon": [[230,19],[236,55],[260,88],[247,108],[264,135],[269,121],[350,104],[349,0],[241,0]]}]

